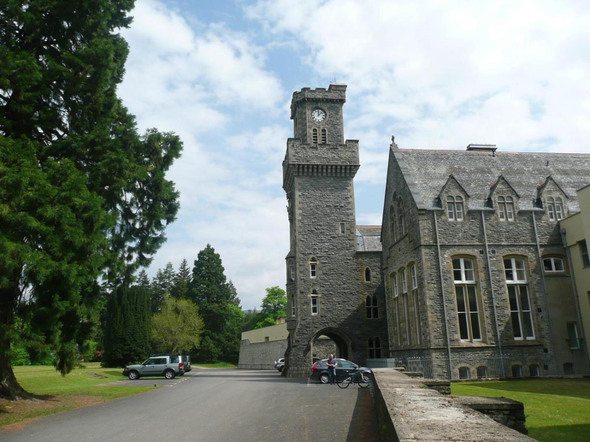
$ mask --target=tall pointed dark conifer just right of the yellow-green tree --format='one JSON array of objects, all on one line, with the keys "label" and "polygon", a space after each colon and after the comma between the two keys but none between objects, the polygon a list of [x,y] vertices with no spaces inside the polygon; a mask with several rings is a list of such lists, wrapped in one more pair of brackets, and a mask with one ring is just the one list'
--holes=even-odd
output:
[{"label": "tall pointed dark conifer just right of the yellow-green tree", "polygon": [[207,362],[237,361],[243,313],[232,304],[235,297],[224,270],[221,257],[209,244],[199,252],[192,269],[189,296],[199,306],[205,324],[196,357]]}]

